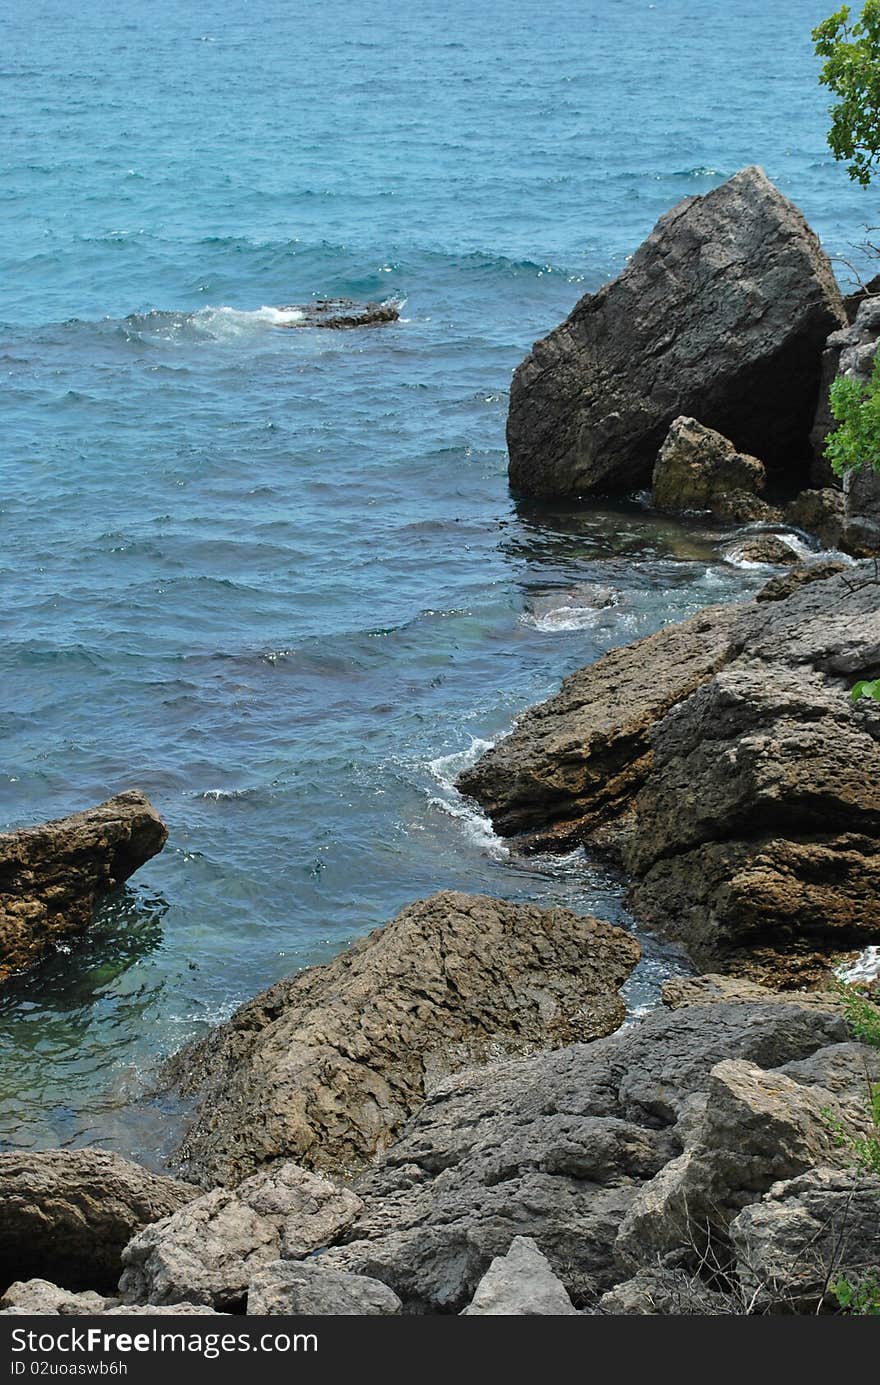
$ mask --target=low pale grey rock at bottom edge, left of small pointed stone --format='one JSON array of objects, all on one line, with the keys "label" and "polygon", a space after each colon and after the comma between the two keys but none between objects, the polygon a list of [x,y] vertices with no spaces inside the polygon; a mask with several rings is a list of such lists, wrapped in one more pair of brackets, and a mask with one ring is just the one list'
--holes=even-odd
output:
[{"label": "low pale grey rock at bottom edge, left of small pointed stone", "polygon": [[326,1269],[320,1260],[274,1260],[248,1287],[248,1313],[378,1317],[401,1312],[401,1299],[380,1280]]}]

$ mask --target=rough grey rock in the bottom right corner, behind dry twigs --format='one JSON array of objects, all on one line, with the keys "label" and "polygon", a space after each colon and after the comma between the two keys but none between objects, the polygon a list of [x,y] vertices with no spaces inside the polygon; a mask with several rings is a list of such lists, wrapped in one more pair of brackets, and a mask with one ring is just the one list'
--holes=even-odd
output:
[{"label": "rough grey rock in the bottom right corner, behind dry twigs", "polygon": [[811,1169],[775,1184],[730,1226],[736,1273],[754,1312],[833,1307],[833,1281],[880,1267],[880,1177]]}]

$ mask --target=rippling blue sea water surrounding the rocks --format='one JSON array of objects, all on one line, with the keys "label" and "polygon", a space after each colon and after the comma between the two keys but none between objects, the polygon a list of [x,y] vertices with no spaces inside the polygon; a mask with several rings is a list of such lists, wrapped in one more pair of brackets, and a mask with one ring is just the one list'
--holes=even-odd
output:
[{"label": "rippling blue sea water surrounding the rocks", "polygon": [[[0,827],[139,785],[170,838],[0,1000],[1,1143],[161,1162],[158,1058],[434,889],[626,921],[455,771],[765,573],[637,506],[514,504],[506,391],[746,163],[851,255],[876,212],[825,147],[830,8],[4,0]],[[402,320],[274,312],[328,295]],[[649,943],[633,1003],[669,965]]]}]

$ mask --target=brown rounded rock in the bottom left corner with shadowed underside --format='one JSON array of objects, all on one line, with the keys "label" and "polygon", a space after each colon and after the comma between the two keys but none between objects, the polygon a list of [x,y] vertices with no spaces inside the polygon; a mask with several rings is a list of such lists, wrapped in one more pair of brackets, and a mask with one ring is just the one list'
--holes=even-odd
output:
[{"label": "brown rounded rock in the bottom left corner with shadowed underside", "polygon": [[0,1284],[109,1292],[132,1235],[195,1192],[108,1150],[0,1154]]}]

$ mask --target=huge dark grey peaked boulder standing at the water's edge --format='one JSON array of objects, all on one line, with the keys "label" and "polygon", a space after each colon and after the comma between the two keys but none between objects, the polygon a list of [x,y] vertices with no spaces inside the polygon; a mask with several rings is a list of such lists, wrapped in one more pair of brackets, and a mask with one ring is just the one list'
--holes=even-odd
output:
[{"label": "huge dark grey peaked boulder standing at the water's edge", "polygon": [[510,483],[534,496],[644,486],[679,414],[775,474],[805,472],[822,350],[844,323],[801,212],[743,169],[662,216],[624,273],[535,343],[510,391]]}]

